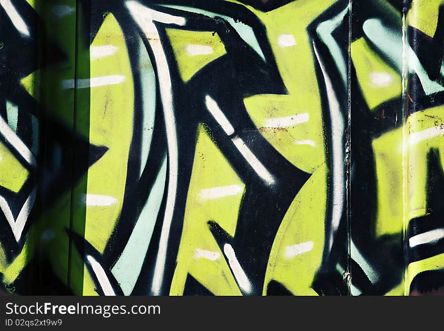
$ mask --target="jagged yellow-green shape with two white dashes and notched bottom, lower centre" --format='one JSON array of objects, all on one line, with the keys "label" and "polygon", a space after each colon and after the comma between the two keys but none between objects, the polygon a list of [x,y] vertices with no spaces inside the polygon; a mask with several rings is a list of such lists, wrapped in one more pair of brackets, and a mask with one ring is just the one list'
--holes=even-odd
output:
[{"label": "jagged yellow-green shape with two white dashes and notched bottom, lower centre", "polygon": [[[240,295],[241,292],[207,222],[216,222],[228,234],[234,236],[243,193],[205,200],[199,195],[199,191],[212,187],[245,185],[202,124],[197,129],[196,140],[184,227],[170,294],[182,295],[189,273],[215,295]],[[195,259],[196,249],[216,252],[219,258],[215,261]]]}]

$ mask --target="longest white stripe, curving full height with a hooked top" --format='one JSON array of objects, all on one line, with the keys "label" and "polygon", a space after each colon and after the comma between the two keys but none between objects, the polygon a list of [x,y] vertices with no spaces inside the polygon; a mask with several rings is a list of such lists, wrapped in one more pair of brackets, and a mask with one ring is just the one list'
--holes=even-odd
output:
[{"label": "longest white stripe, curving full height with a hooked top", "polygon": [[147,36],[148,42],[154,54],[160,88],[160,99],[163,106],[163,116],[167,130],[168,160],[170,169],[168,193],[162,229],[160,231],[159,248],[157,250],[157,257],[154,266],[153,282],[151,286],[153,295],[158,295],[162,287],[163,272],[167,258],[168,239],[170,237],[170,227],[173,221],[173,212],[176,204],[177,175],[179,165],[176,119],[174,116],[170,69],[168,67],[167,57],[160,43],[159,33],[153,21],[167,24],[185,25],[186,20],[182,17],[153,11],[136,1],[126,1],[125,6],[128,8],[130,14]]}]

